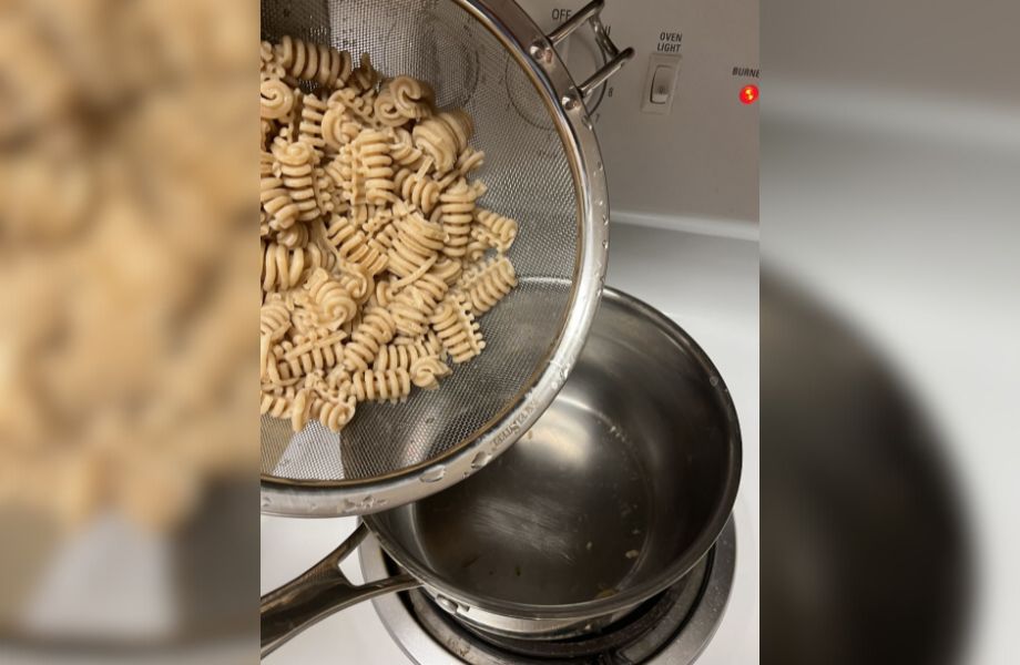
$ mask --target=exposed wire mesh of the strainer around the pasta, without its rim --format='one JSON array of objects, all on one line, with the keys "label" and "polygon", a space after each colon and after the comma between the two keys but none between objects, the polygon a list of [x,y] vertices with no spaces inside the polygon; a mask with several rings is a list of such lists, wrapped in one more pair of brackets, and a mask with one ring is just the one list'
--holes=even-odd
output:
[{"label": "exposed wire mesh of the strainer around the pasta, without its rim", "polygon": [[455,366],[434,391],[402,405],[361,403],[335,434],[312,422],[262,420],[262,472],[285,479],[370,483],[475,439],[544,368],[565,323],[579,252],[570,162],[542,96],[481,23],[451,0],[262,2],[263,38],[290,34],[367,52],[387,75],[436,89],[440,106],[462,106],[484,151],[479,205],[518,221],[509,256],[520,286],[481,318],[486,350]]}]

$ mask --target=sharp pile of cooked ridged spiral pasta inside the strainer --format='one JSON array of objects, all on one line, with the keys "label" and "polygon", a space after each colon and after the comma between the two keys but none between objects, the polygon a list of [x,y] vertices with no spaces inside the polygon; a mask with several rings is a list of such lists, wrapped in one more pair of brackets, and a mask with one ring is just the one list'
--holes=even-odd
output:
[{"label": "sharp pile of cooked ridged spiral pasta inside the strainer", "polygon": [[482,352],[518,224],[479,207],[475,124],[427,83],[289,37],[259,74],[261,409],[338,432]]}]

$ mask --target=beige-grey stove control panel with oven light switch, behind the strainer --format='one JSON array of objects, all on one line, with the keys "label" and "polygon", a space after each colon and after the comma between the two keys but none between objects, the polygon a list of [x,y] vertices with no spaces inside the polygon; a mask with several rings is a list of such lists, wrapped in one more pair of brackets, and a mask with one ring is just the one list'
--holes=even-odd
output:
[{"label": "beige-grey stove control panel with oven light switch, behind the strainer", "polygon": [[[584,0],[518,0],[547,32]],[[737,223],[756,233],[758,0],[605,0],[602,20],[635,57],[589,100],[615,218]],[[560,52],[581,81],[601,61],[590,30]],[[765,91],[767,94],[767,91]]]}]

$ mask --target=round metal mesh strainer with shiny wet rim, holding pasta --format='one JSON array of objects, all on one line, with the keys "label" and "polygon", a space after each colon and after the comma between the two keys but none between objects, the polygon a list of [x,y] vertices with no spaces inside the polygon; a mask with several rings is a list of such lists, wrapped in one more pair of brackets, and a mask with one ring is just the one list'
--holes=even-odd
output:
[{"label": "round metal mesh strainer with shiny wet rim, holding pasta", "polygon": [[[369,53],[465,108],[486,152],[480,205],[520,224],[520,285],[481,320],[487,347],[435,391],[363,403],[336,434],[262,421],[264,512],[363,514],[421,499],[502,452],[549,406],[580,352],[608,247],[605,183],[581,100],[631,55],[604,34],[601,0],[545,37],[508,0],[263,0],[263,38]],[[583,22],[610,62],[575,86],[553,44]]]}]

